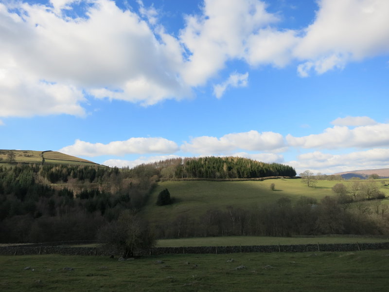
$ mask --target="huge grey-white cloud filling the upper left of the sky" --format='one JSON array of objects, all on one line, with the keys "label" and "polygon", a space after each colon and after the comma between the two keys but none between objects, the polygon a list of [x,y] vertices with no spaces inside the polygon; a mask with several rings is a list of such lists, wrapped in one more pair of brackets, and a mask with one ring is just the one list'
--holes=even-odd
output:
[{"label": "huge grey-white cloud filling the upper left of the sky", "polygon": [[176,38],[110,0],[67,17],[72,2],[0,3],[0,116],[83,115],[85,92],[143,105],[190,95]]}]

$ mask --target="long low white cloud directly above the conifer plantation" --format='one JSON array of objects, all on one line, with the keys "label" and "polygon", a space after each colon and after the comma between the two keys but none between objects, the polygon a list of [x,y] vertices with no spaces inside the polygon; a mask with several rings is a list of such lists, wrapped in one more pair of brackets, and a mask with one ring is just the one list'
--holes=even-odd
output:
[{"label": "long low white cloud directly above the conifer plantation", "polygon": [[185,142],[181,150],[197,154],[229,153],[237,149],[249,151],[279,150],[284,147],[283,136],[274,132],[251,130],[243,133],[232,133],[220,138],[202,136],[192,138],[190,143]]}]

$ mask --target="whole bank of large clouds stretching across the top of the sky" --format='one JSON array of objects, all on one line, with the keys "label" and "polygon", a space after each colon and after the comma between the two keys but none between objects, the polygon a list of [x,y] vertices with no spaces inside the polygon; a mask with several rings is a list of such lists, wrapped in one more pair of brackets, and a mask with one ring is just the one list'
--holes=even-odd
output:
[{"label": "whole bank of large clouds stretching across the top of the sky", "polygon": [[[252,68],[298,60],[307,77],[389,52],[387,0],[320,0],[300,31],[282,28],[265,1],[204,0],[177,36],[158,23],[157,9],[138,5],[135,12],[112,0],[0,3],[0,116],[82,116],[90,96],[144,106],[182,99],[231,60]],[[245,74],[231,75],[214,93],[246,83]]]}]

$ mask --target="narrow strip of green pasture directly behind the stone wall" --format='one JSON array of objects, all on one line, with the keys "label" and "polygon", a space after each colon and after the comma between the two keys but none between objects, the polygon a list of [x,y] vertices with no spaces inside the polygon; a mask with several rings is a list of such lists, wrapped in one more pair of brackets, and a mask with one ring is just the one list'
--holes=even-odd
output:
[{"label": "narrow strip of green pasture directly behind the stone wall", "polygon": [[230,236],[230,237],[195,237],[159,239],[158,247],[168,246],[238,246],[238,245],[278,245],[278,244],[330,244],[330,243],[362,243],[387,242],[389,237],[363,236],[323,236],[323,237],[257,237],[257,236]]}]

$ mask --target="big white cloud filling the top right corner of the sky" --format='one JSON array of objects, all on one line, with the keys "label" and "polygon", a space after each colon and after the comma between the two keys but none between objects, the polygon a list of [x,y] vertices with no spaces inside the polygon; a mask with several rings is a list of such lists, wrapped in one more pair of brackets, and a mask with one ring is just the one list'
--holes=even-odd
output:
[{"label": "big white cloud filling the top right corner of the sky", "polygon": [[319,0],[318,5],[315,21],[293,49],[295,57],[308,60],[298,67],[301,76],[389,52],[389,1]]}]

